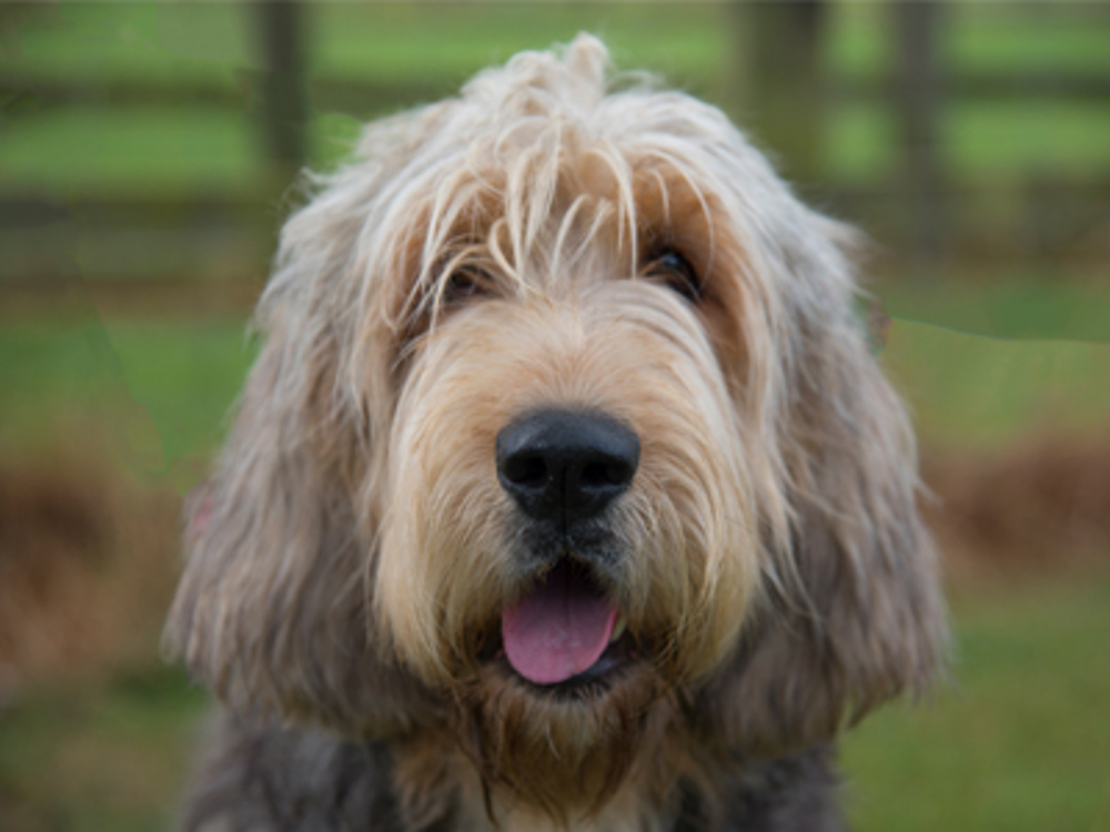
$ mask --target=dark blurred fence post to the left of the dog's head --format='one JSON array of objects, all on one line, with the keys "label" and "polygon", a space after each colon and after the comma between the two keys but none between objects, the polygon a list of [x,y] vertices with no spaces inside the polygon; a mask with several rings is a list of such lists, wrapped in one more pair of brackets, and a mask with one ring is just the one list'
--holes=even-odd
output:
[{"label": "dark blurred fence post to the left of the dog's head", "polygon": [[293,0],[263,0],[254,8],[264,67],[262,126],[284,186],[307,156],[303,8]]}]

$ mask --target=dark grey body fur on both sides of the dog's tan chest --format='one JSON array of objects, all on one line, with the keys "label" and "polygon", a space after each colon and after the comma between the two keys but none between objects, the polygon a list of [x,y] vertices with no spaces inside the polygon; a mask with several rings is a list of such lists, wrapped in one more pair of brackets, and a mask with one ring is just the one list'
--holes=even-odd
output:
[{"label": "dark grey body fur on both sides of the dog's tan chest", "polygon": [[[189,800],[184,832],[451,832],[455,818],[406,824],[394,798],[390,744],[285,730],[222,714]],[[718,832],[844,832],[833,749],[753,763],[723,790]],[[707,829],[682,795],[670,832]]]}]

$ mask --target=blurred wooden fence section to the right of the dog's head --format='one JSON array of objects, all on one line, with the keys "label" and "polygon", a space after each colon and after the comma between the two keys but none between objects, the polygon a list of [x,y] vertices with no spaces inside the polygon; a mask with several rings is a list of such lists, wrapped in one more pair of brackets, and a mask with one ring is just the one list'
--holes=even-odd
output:
[{"label": "blurred wooden fence section to the right of the dog's head", "polygon": [[[1106,109],[1110,73],[953,72],[942,59],[952,4],[905,2],[886,10],[895,59],[888,73],[837,79],[814,59],[826,37],[827,2],[740,8],[749,43],[756,34],[746,103],[767,144],[781,152],[804,190],[861,222],[900,253],[897,260],[910,272],[929,276],[968,260],[1036,268],[1073,258],[1107,268],[1110,170],[1067,176],[1031,169],[1023,181],[1001,186],[967,181],[946,164],[944,120],[948,108],[961,103],[1053,101]],[[1110,16],[1092,8],[1090,18],[1110,42]],[[820,165],[831,112],[860,101],[887,108],[897,124],[898,171],[878,184],[838,182]],[[1005,212],[990,207],[999,202]]]}]

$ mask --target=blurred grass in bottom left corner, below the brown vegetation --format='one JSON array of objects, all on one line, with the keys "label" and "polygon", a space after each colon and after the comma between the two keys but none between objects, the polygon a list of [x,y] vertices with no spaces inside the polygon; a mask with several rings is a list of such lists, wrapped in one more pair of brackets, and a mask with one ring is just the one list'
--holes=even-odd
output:
[{"label": "blurred grass in bottom left corner, below the brown vegetation", "polygon": [[0,710],[6,832],[172,828],[208,697],[152,666],[27,692]]}]

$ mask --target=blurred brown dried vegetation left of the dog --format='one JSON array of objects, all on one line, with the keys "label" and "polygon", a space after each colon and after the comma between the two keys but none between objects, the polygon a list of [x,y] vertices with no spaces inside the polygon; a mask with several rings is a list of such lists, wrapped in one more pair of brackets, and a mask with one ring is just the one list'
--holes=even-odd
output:
[{"label": "blurred brown dried vegetation left of the dog", "polygon": [[9,684],[17,674],[72,678],[153,655],[178,571],[178,505],[172,493],[85,458],[0,466],[0,668]]}]

